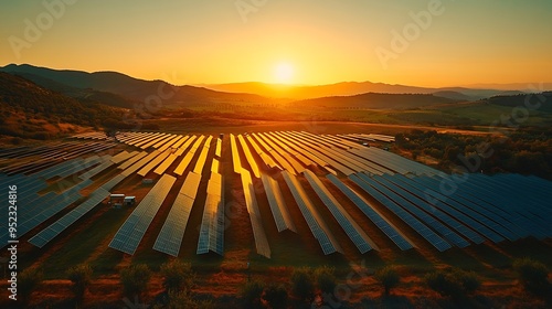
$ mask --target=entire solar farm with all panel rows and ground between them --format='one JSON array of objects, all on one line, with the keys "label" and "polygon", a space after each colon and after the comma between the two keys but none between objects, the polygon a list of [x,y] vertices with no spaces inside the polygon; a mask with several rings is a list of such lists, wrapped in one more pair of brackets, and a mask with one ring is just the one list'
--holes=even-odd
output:
[{"label": "entire solar farm with all panel rows and ground between them", "polygon": [[[17,234],[3,228],[2,247],[19,241],[21,263],[56,278],[81,263],[109,275],[178,257],[219,276],[250,265],[475,264],[520,242],[548,246],[552,182],[446,174],[382,149],[393,141],[91,132],[2,149],[0,182],[19,195]],[[136,204],[112,203],[125,194]]]}]

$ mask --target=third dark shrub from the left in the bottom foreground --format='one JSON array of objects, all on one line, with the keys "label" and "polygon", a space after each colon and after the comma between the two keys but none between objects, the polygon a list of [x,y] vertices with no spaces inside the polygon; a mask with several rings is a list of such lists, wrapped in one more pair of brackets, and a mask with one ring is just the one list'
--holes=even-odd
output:
[{"label": "third dark shrub from the left in the bottom foreground", "polygon": [[163,276],[163,287],[168,291],[191,290],[194,286],[195,274],[190,263],[183,263],[179,259],[168,262],[161,265],[161,275]]}]

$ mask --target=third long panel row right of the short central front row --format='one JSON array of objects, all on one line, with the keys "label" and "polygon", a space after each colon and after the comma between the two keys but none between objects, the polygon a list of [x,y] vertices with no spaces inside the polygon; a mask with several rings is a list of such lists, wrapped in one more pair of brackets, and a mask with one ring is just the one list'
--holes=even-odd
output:
[{"label": "third long panel row right of the short central front row", "polygon": [[400,249],[407,251],[414,247],[413,243],[399,232],[399,228],[389,222],[378,210],[372,207],[361,195],[341,182],[336,175],[328,174],[326,178],[341,190]]}]

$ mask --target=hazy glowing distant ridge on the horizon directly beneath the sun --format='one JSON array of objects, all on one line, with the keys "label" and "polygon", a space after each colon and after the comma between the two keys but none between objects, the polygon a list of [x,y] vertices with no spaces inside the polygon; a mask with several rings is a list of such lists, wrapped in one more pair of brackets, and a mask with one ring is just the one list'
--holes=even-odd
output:
[{"label": "hazy glowing distant ridge on the horizon directly beneath the sun", "polygon": [[481,99],[495,95],[500,95],[500,89],[470,89],[463,87],[428,88],[406,85],[391,85],[384,83],[371,82],[344,82],[330,85],[318,86],[294,86],[294,85],[273,85],[264,83],[234,83],[204,85],[205,87],[220,92],[229,93],[251,93],[268,97],[307,99],[331,96],[353,96],[365,93],[385,93],[385,94],[435,94],[437,96],[453,99]]}]

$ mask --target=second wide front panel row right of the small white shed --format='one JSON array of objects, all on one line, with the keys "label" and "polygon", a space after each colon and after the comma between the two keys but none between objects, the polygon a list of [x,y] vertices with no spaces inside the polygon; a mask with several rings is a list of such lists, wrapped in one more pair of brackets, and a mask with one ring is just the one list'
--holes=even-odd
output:
[{"label": "second wide front panel row right of the small white shed", "polygon": [[200,174],[194,172],[188,173],[172,204],[169,216],[164,221],[159,236],[157,236],[153,249],[178,256],[200,182]]}]

